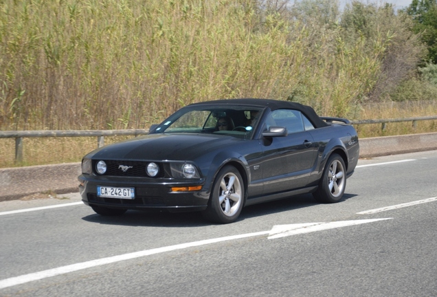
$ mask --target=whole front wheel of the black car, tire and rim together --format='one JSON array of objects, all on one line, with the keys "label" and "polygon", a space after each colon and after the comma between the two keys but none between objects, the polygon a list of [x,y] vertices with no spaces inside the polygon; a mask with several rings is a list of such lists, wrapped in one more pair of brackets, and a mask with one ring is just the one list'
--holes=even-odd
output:
[{"label": "whole front wheel of the black car, tire and rim together", "polygon": [[202,215],[214,223],[232,223],[238,219],[245,197],[243,178],[234,166],[225,166],[217,175],[208,208]]}]

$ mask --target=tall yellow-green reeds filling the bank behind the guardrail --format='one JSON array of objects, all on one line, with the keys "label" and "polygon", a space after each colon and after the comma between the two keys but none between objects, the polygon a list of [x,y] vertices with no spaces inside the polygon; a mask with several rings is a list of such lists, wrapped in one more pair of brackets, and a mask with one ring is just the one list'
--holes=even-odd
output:
[{"label": "tall yellow-green reeds filling the bank behind the guardrail", "polygon": [[0,129],[147,128],[179,107],[275,98],[349,116],[392,36],[345,42],[254,0],[3,0]]}]

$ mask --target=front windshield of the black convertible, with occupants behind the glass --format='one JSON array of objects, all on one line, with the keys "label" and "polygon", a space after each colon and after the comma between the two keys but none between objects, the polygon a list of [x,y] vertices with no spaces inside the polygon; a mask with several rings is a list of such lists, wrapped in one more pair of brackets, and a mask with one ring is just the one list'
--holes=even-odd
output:
[{"label": "front windshield of the black convertible, with occupants behind the glass", "polygon": [[154,133],[216,133],[249,139],[261,111],[229,105],[185,107],[159,124]]}]

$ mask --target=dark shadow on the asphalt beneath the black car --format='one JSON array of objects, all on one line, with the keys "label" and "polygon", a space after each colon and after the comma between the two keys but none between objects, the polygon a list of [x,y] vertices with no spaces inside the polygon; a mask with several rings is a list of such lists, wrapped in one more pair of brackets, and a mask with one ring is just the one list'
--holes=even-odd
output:
[{"label": "dark shadow on the asphalt beneath the black car", "polygon": [[[339,203],[346,201],[355,194],[344,194]],[[277,214],[289,210],[298,210],[318,206],[320,203],[315,201],[311,194],[297,195],[294,197],[260,203],[243,208],[238,221],[262,217],[269,214]],[[100,223],[104,225],[126,225],[126,226],[148,226],[148,227],[168,227],[168,228],[192,228],[207,225],[220,225],[206,221],[200,212],[144,212],[138,210],[128,210],[125,214],[115,217],[103,217],[100,214],[90,214],[82,217],[84,221],[90,223]]]}]

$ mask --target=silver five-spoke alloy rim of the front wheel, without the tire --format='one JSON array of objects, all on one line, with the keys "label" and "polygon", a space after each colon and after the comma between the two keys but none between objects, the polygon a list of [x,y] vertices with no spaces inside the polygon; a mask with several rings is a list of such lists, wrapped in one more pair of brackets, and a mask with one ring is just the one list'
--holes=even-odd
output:
[{"label": "silver five-spoke alloy rim of the front wheel, without the tire", "polygon": [[227,173],[220,182],[219,204],[223,214],[232,217],[243,201],[243,190],[240,180],[234,173]]}]

